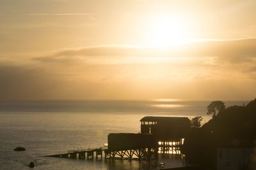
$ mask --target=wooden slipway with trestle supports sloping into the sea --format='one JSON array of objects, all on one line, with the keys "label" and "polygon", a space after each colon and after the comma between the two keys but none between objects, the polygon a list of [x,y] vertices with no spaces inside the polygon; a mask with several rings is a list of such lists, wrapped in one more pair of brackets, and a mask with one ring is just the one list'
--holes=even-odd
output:
[{"label": "wooden slipway with trestle supports sloping into the sea", "polygon": [[[109,150],[107,147],[88,148],[81,150],[68,150],[68,153],[47,155],[46,157],[59,157],[71,159],[129,159],[129,160],[157,160],[157,148],[127,148],[122,150]],[[95,155],[95,156],[94,156]]]}]

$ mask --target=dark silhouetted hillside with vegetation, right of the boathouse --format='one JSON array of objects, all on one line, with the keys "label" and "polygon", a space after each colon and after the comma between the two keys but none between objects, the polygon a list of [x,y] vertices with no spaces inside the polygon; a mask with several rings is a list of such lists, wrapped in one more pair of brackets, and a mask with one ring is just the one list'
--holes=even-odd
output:
[{"label": "dark silhouetted hillside with vegetation, right of the boathouse", "polygon": [[220,110],[202,127],[191,129],[182,151],[190,163],[207,164],[214,168],[217,148],[252,147],[256,139],[255,129],[256,99],[247,106]]}]

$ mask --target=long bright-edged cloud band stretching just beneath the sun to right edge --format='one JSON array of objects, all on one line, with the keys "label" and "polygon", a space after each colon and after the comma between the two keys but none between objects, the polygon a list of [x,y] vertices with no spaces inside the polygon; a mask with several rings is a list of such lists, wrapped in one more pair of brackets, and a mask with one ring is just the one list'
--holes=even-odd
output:
[{"label": "long bright-edged cloud band stretching just beneath the sun to right edge", "polygon": [[[84,57],[212,57],[219,62],[243,63],[256,58],[256,38],[235,39],[228,41],[197,41],[180,46],[143,47],[128,45],[88,46],[52,52],[49,55],[35,57],[40,62],[74,61],[74,58]],[[78,59],[78,58],[77,58]]]}]

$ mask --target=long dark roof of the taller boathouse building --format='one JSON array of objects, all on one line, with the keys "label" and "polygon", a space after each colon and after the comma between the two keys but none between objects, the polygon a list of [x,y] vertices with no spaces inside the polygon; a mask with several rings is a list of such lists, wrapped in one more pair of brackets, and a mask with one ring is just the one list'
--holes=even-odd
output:
[{"label": "long dark roof of the taller boathouse building", "polygon": [[140,122],[190,122],[188,117],[143,117]]}]

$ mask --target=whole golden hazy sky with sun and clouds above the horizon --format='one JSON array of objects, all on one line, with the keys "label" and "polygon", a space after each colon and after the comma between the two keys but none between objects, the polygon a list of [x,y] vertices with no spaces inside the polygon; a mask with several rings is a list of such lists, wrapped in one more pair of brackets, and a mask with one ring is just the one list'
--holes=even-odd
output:
[{"label": "whole golden hazy sky with sun and clouds above the horizon", "polygon": [[255,99],[255,9],[255,0],[1,0],[0,100]]}]

